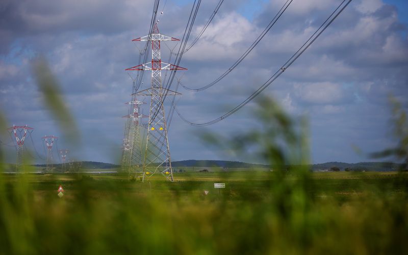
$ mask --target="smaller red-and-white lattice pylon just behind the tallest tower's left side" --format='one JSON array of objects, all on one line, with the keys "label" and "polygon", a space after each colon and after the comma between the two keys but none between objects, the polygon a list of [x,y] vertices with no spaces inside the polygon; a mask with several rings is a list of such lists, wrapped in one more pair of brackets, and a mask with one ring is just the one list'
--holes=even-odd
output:
[{"label": "smaller red-and-white lattice pylon just behind the tallest tower's left side", "polygon": [[142,144],[143,144],[143,125],[140,118],[147,117],[140,114],[140,105],[144,102],[134,100],[126,104],[132,105],[133,112],[123,118],[131,118],[132,123],[127,133],[127,138],[123,139],[123,157],[122,167],[130,174],[132,168],[139,167],[143,163]]}]

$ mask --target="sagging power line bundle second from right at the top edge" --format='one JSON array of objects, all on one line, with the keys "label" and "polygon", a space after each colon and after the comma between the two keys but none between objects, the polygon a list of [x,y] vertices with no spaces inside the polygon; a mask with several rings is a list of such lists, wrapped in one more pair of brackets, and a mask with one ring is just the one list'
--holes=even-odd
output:
[{"label": "sagging power line bundle second from right at the top edge", "polygon": [[190,89],[186,86],[183,86],[186,90],[189,91],[203,91],[206,90],[212,86],[214,86],[216,83],[218,83],[220,80],[222,80],[225,76],[231,73],[232,70],[234,70],[245,58],[246,56],[252,51],[254,47],[258,45],[258,43],[264,38],[264,36],[269,32],[269,30],[272,28],[272,26],[276,23],[276,21],[282,16],[282,14],[286,11],[286,9],[289,7],[289,5],[292,3],[293,0],[287,0],[285,4],[282,6],[282,8],[276,13],[276,15],[273,17],[273,19],[269,22],[269,24],[265,27],[264,31],[258,36],[258,38],[249,46],[249,48],[239,57],[239,59],[230,67],[228,70],[226,70],[223,74],[221,74],[218,78],[216,78],[214,81],[212,81],[210,84],[207,84],[204,87],[198,88],[198,89]]}]

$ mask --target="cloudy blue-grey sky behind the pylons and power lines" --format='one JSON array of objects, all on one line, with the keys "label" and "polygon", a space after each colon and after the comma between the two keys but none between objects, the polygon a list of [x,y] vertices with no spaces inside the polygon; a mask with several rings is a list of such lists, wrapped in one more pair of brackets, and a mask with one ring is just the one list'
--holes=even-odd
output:
[{"label": "cloudy blue-grey sky behind the pylons and power lines", "polygon": [[[80,144],[58,140],[76,160],[119,162],[132,80],[141,42],[148,33],[154,1],[3,0],[0,3],[0,112],[7,125],[34,128],[30,150],[44,155],[41,137],[61,135],[44,105],[33,62],[44,56],[59,80],[64,103],[81,131]],[[193,1],[160,1],[159,30],[182,38]],[[207,122],[243,101],[303,44],[337,7],[339,0],[294,0],[247,58],[212,88],[179,89],[177,110],[191,122]],[[191,39],[206,23],[217,0],[202,1]],[[200,40],[183,56],[177,72],[183,84],[203,87],[227,70],[264,30],[282,0],[225,0]],[[408,108],[408,4],[397,0],[353,0],[316,42],[263,94],[276,99],[293,118],[309,121],[311,160],[371,161],[367,154],[395,144],[389,96]],[[189,45],[189,43],[187,44]],[[162,60],[169,48],[162,44]],[[174,59],[174,56],[172,57]],[[162,75],[165,76],[166,71]],[[150,84],[145,75],[143,88]],[[143,99],[148,102],[148,99]],[[223,135],[256,129],[254,103],[215,125],[171,121],[171,158],[243,160],[201,142],[197,133]],[[142,109],[147,114],[148,109]],[[14,162],[11,138],[2,135]],[[69,148],[71,146],[71,148]],[[355,149],[359,148],[359,149]]]}]

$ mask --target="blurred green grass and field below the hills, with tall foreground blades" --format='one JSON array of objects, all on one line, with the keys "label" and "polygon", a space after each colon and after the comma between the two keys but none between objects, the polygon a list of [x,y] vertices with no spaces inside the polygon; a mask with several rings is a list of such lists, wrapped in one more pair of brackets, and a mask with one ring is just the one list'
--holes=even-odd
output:
[{"label": "blurred green grass and field below the hills, with tall foreground blades", "polygon": [[[67,112],[56,117],[64,135],[81,137],[44,59],[34,72],[52,115]],[[127,173],[0,174],[0,254],[408,254],[407,173],[310,173],[307,123],[268,98],[254,116],[259,130],[201,136],[273,172],[184,172],[176,182],[156,175],[144,183]],[[405,127],[393,150],[400,158]],[[214,182],[225,189],[218,194]]]}]

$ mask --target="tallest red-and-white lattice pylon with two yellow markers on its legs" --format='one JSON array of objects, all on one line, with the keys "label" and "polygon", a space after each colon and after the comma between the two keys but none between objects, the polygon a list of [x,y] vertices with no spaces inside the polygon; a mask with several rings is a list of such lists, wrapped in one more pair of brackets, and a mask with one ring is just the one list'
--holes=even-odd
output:
[{"label": "tallest red-and-white lattice pylon with two yellow markers on its legs", "polygon": [[150,96],[149,122],[147,125],[143,162],[143,181],[156,173],[161,173],[168,181],[173,181],[163,98],[164,95],[181,94],[162,87],[161,70],[187,69],[162,62],[160,42],[180,40],[160,34],[156,23],[150,35],[134,39],[133,41],[151,41],[151,62],[126,69],[128,71],[151,70],[151,87],[133,94],[135,96]]}]

